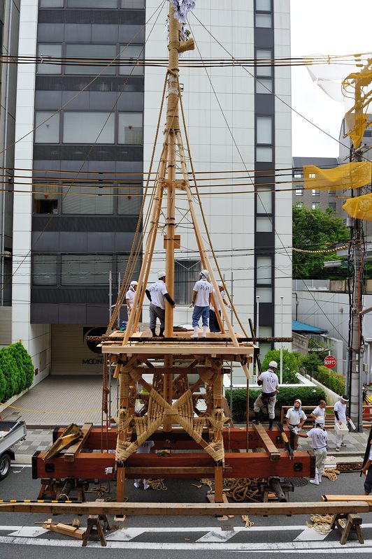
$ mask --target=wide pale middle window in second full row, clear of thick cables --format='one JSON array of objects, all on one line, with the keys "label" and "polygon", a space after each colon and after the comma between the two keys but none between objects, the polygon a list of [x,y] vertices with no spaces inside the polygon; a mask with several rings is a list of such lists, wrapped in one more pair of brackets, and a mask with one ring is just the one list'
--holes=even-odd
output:
[{"label": "wide pale middle window in second full row, clear of thick cables", "polygon": [[110,112],[64,112],[63,141],[66,144],[113,144],[115,115]]}]

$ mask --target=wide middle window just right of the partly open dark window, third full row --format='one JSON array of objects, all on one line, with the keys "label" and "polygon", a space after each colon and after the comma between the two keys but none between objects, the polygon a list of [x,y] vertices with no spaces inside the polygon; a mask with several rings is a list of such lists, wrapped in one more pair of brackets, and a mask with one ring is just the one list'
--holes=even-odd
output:
[{"label": "wide middle window just right of the partly open dark window, third full row", "polygon": [[71,182],[62,187],[63,214],[113,214],[113,187]]}]

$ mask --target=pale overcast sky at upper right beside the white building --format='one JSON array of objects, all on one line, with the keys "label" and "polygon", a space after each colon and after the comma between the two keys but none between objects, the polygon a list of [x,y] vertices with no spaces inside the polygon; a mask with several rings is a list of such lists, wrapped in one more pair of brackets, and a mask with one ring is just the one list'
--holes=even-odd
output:
[{"label": "pale overcast sky at upper right beside the white building", "polygon": [[[372,51],[371,0],[361,4],[350,0],[290,2],[292,57]],[[338,139],[343,103],[330,99],[303,66],[292,68],[292,106]],[[337,157],[338,143],[292,112],[292,153],[294,157]]]}]

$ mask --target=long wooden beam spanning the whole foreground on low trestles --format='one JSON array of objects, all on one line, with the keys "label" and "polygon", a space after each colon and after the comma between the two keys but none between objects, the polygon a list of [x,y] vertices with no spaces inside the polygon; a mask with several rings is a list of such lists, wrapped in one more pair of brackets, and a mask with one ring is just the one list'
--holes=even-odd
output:
[{"label": "long wooden beam spanning the whole foreground on low trestles", "polygon": [[369,502],[258,502],[258,503],[193,503],[193,502],[0,502],[0,512],[43,514],[111,514],[143,516],[276,516],[287,514],[343,514],[371,512]]}]

